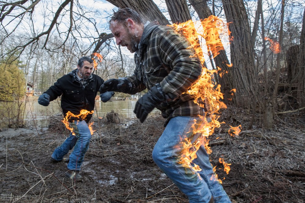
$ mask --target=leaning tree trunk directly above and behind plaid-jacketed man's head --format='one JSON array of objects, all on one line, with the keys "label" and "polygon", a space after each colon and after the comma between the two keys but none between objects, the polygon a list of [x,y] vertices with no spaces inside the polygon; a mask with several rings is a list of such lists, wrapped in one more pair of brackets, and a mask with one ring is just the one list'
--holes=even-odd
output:
[{"label": "leaning tree trunk directly above and behind plaid-jacketed man's head", "polygon": [[146,21],[158,20],[160,25],[170,24],[157,5],[152,0],[137,1],[137,0],[106,0],[113,5],[124,8],[130,8],[138,12],[145,24]]}]

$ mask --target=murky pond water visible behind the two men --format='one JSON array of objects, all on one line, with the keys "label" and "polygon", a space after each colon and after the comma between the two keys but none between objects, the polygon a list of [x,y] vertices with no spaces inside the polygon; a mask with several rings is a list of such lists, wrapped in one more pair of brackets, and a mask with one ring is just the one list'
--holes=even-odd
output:
[{"label": "murky pond water visible behind the two men", "polygon": [[[95,102],[94,116],[95,117],[106,117],[107,112],[118,113],[120,117],[134,118],[135,114],[133,110],[135,108],[137,100],[113,100],[112,102],[103,103],[102,101]],[[25,102],[24,102],[25,103]],[[24,107],[23,103],[23,107]],[[15,103],[3,103],[0,102],[1,111],[4,111],[8,105],[15,105]],[[160,112],[154,109],[152,113]],[[60,99],[51,101],[47,107],[38,104],[38,96],[30,96],[26,101],[25,113],[23,115],[24,121],[27,125],[38,127],[44,127],[48,123],[48,117],[56,114],[61,114]],[[5,115],[7,117],[7,115]],[[2,115],[2,121],[4,121],[4,116]],[[4,122],[2,123],[2,125]]]}]

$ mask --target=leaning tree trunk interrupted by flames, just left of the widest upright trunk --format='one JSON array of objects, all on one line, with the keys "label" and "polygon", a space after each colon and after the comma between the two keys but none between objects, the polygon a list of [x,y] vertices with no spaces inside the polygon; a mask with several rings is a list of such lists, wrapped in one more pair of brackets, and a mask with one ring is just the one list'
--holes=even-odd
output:
[{"label": "leaning tree trunk interrupted by flames, just left of the widest upright trunk", "polygon": [[[189,0],[190,4],[193,6],[195,11],[197,12],[200,19],[208,18],[213,15],[210,8],[207,5],[207,0]],[[222,71],[227,71],[228,74],[223,74],[222,77],[218,75],[218,81],[221,85],[221,92],[224,94],[224,101],[227,101],[229,92],[232,88],[230,67],[226,64],[229,64],[229,60],[225,50],[218,51],[219,54],[217,56],[213,55],[213,59],[215,61],[215,66],[221,68]],[[213,54],[213,53],[212,53]],[[211,56],[210,56],[211,58]]]}]

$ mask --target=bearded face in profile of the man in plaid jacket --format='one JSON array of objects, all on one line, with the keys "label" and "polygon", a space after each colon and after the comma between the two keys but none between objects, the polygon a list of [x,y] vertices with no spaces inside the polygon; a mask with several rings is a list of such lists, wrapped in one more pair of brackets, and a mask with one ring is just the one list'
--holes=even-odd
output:
[{"label": "bearded face in profile of the man in plaid jacket", "polygon": [[110,30],[116,39],[117,45],[127,47],[127,49],[134,53],[138,50],[139,42],[136,41],[136,36],[132,33],[131,28],[124,26],[123,23],[117,20],[111,21]]}]

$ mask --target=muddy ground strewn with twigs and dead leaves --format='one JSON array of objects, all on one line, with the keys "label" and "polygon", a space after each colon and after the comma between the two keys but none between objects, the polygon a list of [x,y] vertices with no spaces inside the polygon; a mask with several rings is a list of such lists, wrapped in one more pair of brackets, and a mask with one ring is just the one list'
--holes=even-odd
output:
[{"label": "muddy ground strewn with twigs and dead leaves", "polygon": [[[260,115],[256,116],[260,118]],[[161,116],[121,118],[121,124],[95,119],[90,148],[82,165],[83,182],[64,177],[66,163],[49,162],[67,132],[58,117],[49,128],[3,129],[0,132],[0,202],[187,203],[188,198],[152,160],[152,150],[163,131]],[[305,201],[305,116],[303,112],[277,115],[274,130],[245,131],[251,114],[228,107],[221,128],[210,138],[213,166],[219,158],[231,163],[227,175],[217,169],[232,202]],[[239,136],[228,135],[242,125]],[[219,139],[216,139],[220,137]],[[68,156],[67,156],[68,157]]]}]

